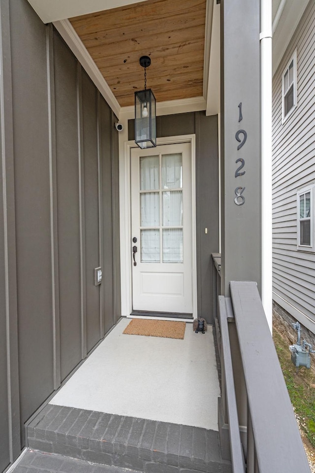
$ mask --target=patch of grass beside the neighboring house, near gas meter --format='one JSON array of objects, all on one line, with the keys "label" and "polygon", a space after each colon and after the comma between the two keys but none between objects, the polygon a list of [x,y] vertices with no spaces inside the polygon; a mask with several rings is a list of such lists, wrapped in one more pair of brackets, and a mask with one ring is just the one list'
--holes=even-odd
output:
[{"label": "patch of grass beside the neighboring house, near gas meter", "polygon": [[[300,428],[311,446],[315,448],[315,371],[312,368],[308,370],[302,367],[296,373],[288,349],[292,342],[283,338],[275,327],[273,339],[291,403],[299,418]],[[314,365],[314,360],[312,363]]]}]

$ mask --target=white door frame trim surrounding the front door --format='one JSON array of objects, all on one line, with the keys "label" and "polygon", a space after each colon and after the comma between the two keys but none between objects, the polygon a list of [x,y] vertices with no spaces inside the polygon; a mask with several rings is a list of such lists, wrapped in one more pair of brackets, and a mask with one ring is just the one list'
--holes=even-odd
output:
[{"label": "white door frame trim surrounding the front door", "polygon": [[[196,153],[195,135],[166,136],[157,138],[157,145],[190,143],[191,150],[191,276],[192,276],[192,316],[197,317],[197,249],[196,249]],[[124,142],[124,156],[120,167],[120,248],[121,248],[121,294],[122,316],[130,317],[132,311],[132,274],[131,274],[131,182],[130,153],[136,148],[134,140]],[[135,317],[135,316],[133,316]],[[144,317],[142,317],[144,318]],[[145,317],[151,318],[151,317]],[[153,318],[153,317],[152,317]],[[181,320],[170,318],[167,320]],[[187,322],[187,319],[183,319]]]}]

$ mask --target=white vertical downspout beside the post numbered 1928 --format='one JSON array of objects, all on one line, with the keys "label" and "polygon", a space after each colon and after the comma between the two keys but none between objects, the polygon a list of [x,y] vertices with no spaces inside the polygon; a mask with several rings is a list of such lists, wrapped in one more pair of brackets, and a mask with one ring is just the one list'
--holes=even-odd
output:
[{"label": "white vertical downspout beside the post numbered 1928", "polygon": [[272,0],[260,0],[261,300],[272,331]]}]

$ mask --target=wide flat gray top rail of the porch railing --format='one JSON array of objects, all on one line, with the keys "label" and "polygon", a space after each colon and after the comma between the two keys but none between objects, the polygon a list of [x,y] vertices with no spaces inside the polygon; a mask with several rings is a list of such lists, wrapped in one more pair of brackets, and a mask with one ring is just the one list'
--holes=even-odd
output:
[{"label": "wide flat gray top rail of the porch railing", "polygon": [[253,438],[251,452],[247,445],[247,471],[310,473],[257,285],[232,281],[230,293],[245,375],[248,436]]}]

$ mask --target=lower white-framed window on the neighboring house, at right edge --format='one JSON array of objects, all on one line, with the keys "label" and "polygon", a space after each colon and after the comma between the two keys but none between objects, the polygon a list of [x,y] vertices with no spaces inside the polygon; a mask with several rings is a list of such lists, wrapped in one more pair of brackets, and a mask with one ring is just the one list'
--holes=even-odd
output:
[{"label": "lower white-framed window on the neighboring house, at right edge", "polygon": [[297,248],[315,251],[314,226],[314,187],[300,189],[297,193]]}]

